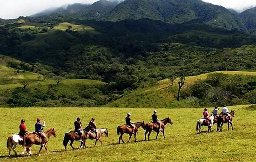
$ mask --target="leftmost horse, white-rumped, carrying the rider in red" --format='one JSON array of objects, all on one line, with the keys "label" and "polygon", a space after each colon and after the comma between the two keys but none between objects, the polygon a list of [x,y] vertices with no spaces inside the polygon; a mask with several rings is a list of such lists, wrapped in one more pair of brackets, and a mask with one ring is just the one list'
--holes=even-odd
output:
[{"label": "leftmost horse, white-rumped, carrying the rider in red", "polygon": [[[22,145],[22,143],[23,143],[23,137],[21,137],[18,134],[13,134],[12,136],[8,137],[7,139],[7,149],[9,150],[8,156],[11,156],[11,150],[13,150],[15,153],[15,156],[17,156],[17,152],[15,148],[18,145]],[[26,149],[23,150],[21,155],[23,155],[25,151]]]}]

